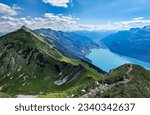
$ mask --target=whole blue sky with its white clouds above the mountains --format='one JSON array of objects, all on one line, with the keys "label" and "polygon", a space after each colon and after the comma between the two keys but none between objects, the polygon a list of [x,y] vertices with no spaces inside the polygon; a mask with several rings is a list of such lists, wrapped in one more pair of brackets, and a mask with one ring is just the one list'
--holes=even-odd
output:
[{"label": "whole blue sky with its white clouds above the mountains", "polygon": [[150,25],[150,0],[0,0],[0,31],[120,30]]}]

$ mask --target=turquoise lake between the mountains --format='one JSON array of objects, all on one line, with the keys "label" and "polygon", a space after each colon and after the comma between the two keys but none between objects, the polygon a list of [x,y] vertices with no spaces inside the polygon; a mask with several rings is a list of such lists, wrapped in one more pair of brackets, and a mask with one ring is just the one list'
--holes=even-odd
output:
[{"label": "turquoise lake between the mountains", "polygon": [[109,49],[92,49],[91,51],[92,52],[87,55],[87,58],[89,58],[94,65],[106,72],[127,63],[137,64],[150,70],[150,63],[115,54]]}]

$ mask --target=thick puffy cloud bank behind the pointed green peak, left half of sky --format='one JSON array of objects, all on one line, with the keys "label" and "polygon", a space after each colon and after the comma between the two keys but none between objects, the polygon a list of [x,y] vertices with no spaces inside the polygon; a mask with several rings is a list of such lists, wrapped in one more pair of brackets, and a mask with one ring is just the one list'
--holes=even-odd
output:
[{"label": "thick puffy cloud bank behind the pointed green peak, left half of sky", "polygon": [[45,13],[44,17],[38,18],[2,16],[0,17],[0,29],[3,31],[12,31],[20,28],[22,25],[26,25],[31,29],[51,28],[54,30],[72,30],[77,29],[78,20],[79,18],[73,18],[72,16],[54,15],[52,13]]}]

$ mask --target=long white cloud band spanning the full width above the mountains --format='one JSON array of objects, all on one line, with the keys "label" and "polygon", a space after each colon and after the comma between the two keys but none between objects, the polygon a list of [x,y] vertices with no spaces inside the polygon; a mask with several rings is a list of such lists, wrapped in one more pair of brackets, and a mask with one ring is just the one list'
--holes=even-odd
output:
[{"label": "long white cloud band spanning the full width above the mountains", "polygon": [[150,19],[137,17],[128,21],[108,22],[101,25],[83,25],[78,23],[79,18],[72,16],[64,16],[62,14],[54,15],[52,13],[45,13],[44,17],[20,17],[15,18],[11,16],[0,17],[0,31],[9,32],[26,25],[31,29],[51,28],[61,31],[102,31],[102,30],[126,30],[134,27],[143,27],[150,25]]}]

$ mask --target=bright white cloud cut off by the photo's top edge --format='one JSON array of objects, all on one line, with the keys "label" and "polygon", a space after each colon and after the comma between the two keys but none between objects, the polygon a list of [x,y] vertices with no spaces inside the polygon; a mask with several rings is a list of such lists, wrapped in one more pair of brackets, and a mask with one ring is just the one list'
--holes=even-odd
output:
[{"label": "bright white cloud cut off by the photo's top edge", "polygon": [[44,3],[49,3],[52,6],[57,6],[57,7],[68,7],[68,3],[70,0],[43,0]]}]

